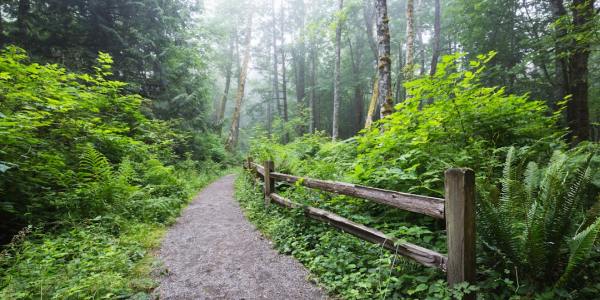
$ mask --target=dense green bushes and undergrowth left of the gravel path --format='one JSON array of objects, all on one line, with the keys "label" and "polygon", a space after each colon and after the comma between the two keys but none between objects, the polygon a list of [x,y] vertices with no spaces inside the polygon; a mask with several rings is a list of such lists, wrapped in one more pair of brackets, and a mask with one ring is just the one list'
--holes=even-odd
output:
[{"label": "dense green bushes and undergrowth left of the gravel path", "polygon": [[[0,54],[0,298],[112,298],[148,291],[165,224],[220,172],[180,154],[194,137],[142,114],[142,97],[94,72]],[[206,133],[207,136],[210,134]],[[198,156],[224,153],[218,139]],[[214,141],[214,140],[213,140]],[[219,148],[220,147],[220,148]],[[145,258],[146,257],[146,258]]]}]

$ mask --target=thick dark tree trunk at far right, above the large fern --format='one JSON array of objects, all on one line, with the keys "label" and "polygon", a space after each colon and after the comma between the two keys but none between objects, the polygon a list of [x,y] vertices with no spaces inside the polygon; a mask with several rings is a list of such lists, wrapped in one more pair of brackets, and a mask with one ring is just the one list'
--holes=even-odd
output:
[{"label": "thick dark tree trunk at far right, above the large fern", "polygon": [[[594,0],[573,0],[573,34],[586,36],[593,30]],[[591,52],[588,38],[574,41],[569,57],[569,93],[572,98],[567,102],[567,122],[570,138],[577,143],[590,138],[590,114],[588,107],[588,60]]]}]

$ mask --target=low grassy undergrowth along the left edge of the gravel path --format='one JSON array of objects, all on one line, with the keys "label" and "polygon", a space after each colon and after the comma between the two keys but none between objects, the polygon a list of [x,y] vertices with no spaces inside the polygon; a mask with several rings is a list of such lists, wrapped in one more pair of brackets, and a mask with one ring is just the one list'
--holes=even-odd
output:
[{"label": "low grassy undergrowth along the left edge of the gravel path", "polygon": [[223,173],[179,167],[165,178],[179,183],[177,192],[153,197],[168,188],[145,185],[133,196],[139,200],[130,216],[99,215],[51,232],[22,230],[0,256],[0,298],[151,299],[162,269],[153,250],[191,197]]}]

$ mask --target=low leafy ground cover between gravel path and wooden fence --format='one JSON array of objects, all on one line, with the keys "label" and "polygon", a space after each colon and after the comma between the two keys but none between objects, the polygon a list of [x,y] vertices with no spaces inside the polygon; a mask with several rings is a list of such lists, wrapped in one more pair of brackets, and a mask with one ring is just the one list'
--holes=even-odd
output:
[{"label": "low leafy ground cover between gravel path and wooden fence", "polygon": [[[290,211],[274,204],[266,207],[261,187],[254,181],[246,173],[236,180],[236,197],[248,219],[273,241],[278,251],[303,263],[332,295],[344,299],[443,299],[460,298],[474,289],[466,284],[449,289],[442,272],[422,268],[380,246],[307,219],[300,209]],[[306,194],[295,195],[287,196],[298,202],[307,199]],[[321,199],[321,204],[324,201]],[[434,239],[424,227],[402,222],[378,227],[387,228],[388,233],[402,240],[444,248],[444,241]]]}]

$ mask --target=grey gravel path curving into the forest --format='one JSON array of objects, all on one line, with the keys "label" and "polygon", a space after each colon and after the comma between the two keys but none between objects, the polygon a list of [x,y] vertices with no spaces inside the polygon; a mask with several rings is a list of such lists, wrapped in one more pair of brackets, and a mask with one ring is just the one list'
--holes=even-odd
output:
[{"label": "grey gravel path curving into the forest", "polygon": [[243,216],[234,175],[206,187],[169,230],[159,252],[160,299],[325,299],[292,257],[278,254]]}]

